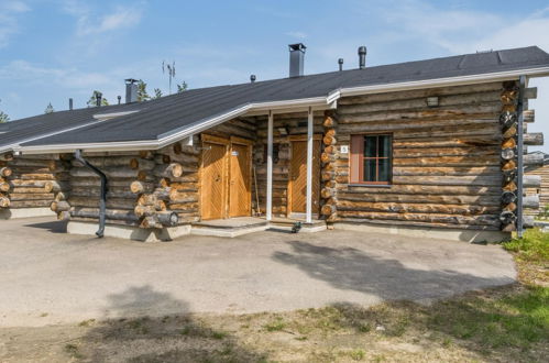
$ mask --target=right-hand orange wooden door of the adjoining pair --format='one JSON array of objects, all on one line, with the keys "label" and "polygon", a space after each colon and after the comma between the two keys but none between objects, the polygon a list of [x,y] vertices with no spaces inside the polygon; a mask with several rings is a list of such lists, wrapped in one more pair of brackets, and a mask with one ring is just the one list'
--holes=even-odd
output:
[{"label": "right-hand orange wooden door of the adjoining pair", "polygon": [[231,138],[229,217],[248,217],[252,211],[252,143]]}]

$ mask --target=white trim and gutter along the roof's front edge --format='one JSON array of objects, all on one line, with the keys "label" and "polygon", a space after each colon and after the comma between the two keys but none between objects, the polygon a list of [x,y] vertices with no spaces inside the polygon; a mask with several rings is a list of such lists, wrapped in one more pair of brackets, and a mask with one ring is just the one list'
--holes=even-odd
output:
[{"label": "white trim and gutter along the roof's front edge", "polygon": [[[518,79],[519,76],[527,77],[545,77],[549,76],[549,67],[539,67],[530,69],[519,69],[519,70],[507,70],[507,72],[496,72],[482,75],[472,76],[460,76],[460,77],[447,77],[437,79],[425,79],[425,80],[414,80],[404,81],[395,84],[384,84],[384,85],[373,85],[373,86],[361,86],[361,87],[349,87],[340,88],[331,91],[327,97],[316,97],[307,99],[287,100],[287,101],[274,101],[274,102],[259,102],[259,103],[248,103],[238,109],[233,109],[226,113],[216,116],[213,118],[197,122],[190,127],[184,127],[179,130],[174,130],[168,133],[161,134],[158,140],[149,141],[127,141],[127,142],[105,142],[105,143],[80,143],[80,144],[57,144],[57,145],[42,145],[42,146],[19,146],[13,145],[13,151],[21,151],[25,154],[40,154],[40,153],[62,153],[62,152],[74,152],[75,150],[86,150],[86,151],[134,151],[134,150],[156,150],[162,148],[171,143],[174,143],[184,138],[190,136],[193,134],[205,131],[211,127],[219,123],[228,121],[239,116],[243,116],[249,112],[265,111],[267,113],[270,110],[285,109],[285,108],[300,108],[300,107],[326,107],[327,105],[333,105],[339,98],[348,96],[359,96],[369,94],[383,94],[409,89],[422,89],[432,87],[449,87],[449,86],[462,86],[468,84],[481,84],[491,81],[504,81]],[[75,128],[78,129],[78,128]],[[70,131],[64,130],[63,132]],[[57,132],[61,133],[61,132]],[[56,133],[54,133],[56,134]],[[43,139],[48,135],[35,138]],[[21,143],[29,142],[32,140],[25,140]],[[1,152],[1,151],[0,151]]]}]

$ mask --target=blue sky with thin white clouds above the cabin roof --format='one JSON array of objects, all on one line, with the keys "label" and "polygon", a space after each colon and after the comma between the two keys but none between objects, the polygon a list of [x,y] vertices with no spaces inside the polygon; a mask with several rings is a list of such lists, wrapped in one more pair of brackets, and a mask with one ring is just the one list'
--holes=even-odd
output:
[{"label": "blue sky with thin white clouds above the cabin roof", "polygon": [[[85,107],[94,89],[110,102],[123,79],[167,92],[285,77],[287,44],[307,45],[307,74],[538,45],[549,51],[546,1],[80,1],[0,0],[0,110],[12,119]],[[549,131],[549,80],[535,79],[534,131]],[[546,124],[542,124],[546,121]],[[549,132],[547,133],[549,136]],[[549,146],[546,146],[549,151]]]}]

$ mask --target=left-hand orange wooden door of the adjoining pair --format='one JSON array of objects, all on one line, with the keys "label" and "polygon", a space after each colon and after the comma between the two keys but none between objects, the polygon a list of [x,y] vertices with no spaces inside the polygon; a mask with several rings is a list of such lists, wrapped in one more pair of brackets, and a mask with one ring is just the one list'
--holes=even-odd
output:
[{"label": "left-hand orange wooden door of the adjoining pair", "polygon": [[202,147],[201,218],[204,220],[224,218],[229,140],[204,135]]}]

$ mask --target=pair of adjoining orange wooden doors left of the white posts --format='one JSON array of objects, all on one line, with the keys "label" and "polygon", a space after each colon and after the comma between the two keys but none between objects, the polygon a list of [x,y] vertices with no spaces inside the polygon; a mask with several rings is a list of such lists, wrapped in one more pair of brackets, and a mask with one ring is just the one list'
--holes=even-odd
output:
[{"label": "pair of adjoining orange wooden doors left of the white posts", "polygon": [[202,135],[200,213],[202,220],[251,216],[252,142]]}]

